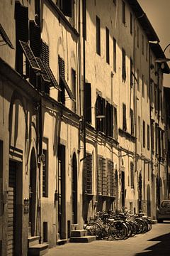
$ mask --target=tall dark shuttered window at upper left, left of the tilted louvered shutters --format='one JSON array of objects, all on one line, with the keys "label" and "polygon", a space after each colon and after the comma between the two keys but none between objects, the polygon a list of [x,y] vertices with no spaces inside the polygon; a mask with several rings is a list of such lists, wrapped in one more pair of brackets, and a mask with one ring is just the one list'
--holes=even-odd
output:
[{"label": "tall dark shuttered window at upper left, left of the tilted louvered shutters", "polygon": [[[28,42],[28,7],[22,6],[19,2],[15,5],[16,18],[16,70],[23,75],[26,70],[26,78],[28,78],[28,62],[23,63],[23,49],[20,41]],[[23,67],[23,65],[26,65]],[[23,69],[24,68],[24,69]]]}]

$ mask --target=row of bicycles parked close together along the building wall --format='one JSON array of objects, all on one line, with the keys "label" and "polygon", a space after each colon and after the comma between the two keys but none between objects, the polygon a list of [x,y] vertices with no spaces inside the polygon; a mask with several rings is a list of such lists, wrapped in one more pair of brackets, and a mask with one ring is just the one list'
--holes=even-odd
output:
[{"label": "row of bicycles parked close together along the building wall", "polygon": [[112,210],[99,211],[84,227],[88,235],[97,239],[123,240],[152,229],[152,220],[142,214],[115,213]]}]

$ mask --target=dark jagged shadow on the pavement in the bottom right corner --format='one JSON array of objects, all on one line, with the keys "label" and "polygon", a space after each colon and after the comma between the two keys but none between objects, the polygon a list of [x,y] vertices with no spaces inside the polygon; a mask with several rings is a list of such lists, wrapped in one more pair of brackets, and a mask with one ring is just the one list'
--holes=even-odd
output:
[{"label": "dark jagged shadow on the pavement in the bottom right corner", "polygon": [[[164,223],[166,225],[166,223]],[[147,247],[146,252],[139,252],[135,256],[168,256],[170,252],[170,233],[165,235],[160,235],[157,238],[151,239],[149,241],[157,241],[156,245]]]}]

